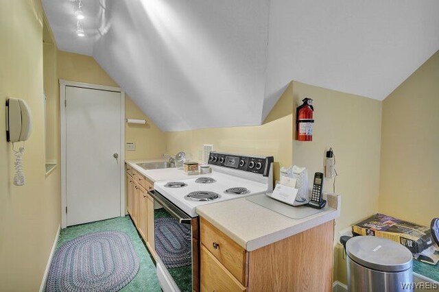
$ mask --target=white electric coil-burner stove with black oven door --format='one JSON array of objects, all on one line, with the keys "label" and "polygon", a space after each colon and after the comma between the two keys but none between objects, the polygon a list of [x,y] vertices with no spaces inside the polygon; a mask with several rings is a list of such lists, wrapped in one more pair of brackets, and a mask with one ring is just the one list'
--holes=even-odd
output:
[{"label": "white electric coil-burner stove with black oven door", "polygon": [[[157,276],[165,292],[200,291],[200,226],[196,212],[198,206],[273,190],[272,156],[256,157],[211,152],[209,165],[212,167],[212,173],[154,182],[154,191],[149,192],[154,198],[154,203],[163,207],[154,210],[154,231]],[[169,225],[165,226],[163,217],[174,219],[170,219]],[[188,234],[187,241],[180,240],[176,243],[177,236],[173,236],[171,232]],[[159,233],[165,235],[158,236]],[[159,244],[161,247],[158,247]],[[169,249],[175,246],[174,254],[178,254],[185,245],[191,251],[191,264],[175,267],[167,263],[169,253],[174,253],[169,252]],[[163,252],[165,246],[167,254]],[[185,277],[174,277],[182,273],[181,269],[187,269],[185,273],[192,274],[191,282],[187,282]]]}]

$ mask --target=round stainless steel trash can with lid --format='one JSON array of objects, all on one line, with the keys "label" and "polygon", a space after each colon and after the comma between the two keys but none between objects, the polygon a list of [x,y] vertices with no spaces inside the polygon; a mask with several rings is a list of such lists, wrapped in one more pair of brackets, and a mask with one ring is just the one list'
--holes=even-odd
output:
[{"label": "round stainless steel trash can with lid", "polygon": [[413,291],[412,253],[403,245],[375,236],[346,243],[349,292]]}]

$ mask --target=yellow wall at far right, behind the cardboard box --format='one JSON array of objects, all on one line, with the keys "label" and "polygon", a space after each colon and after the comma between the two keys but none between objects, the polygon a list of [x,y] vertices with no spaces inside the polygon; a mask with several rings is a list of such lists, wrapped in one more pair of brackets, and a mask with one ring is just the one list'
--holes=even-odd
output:
[{"label": "yellow wall at far right, behind the cardboard box", "polygon": [[379,211],[429,226],[439,216],[439,51],[383,101]]}]

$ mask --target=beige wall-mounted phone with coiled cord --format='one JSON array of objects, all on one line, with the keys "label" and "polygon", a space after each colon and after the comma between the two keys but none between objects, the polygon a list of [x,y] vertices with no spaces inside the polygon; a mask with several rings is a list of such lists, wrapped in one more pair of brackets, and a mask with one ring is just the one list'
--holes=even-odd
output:
[{"label": "beige wall-mounted phone with coiled cord", "polygon": [[[23,99],[10,98],[6,100],[6,140],[16,143],[26,141],[32,132],[32,114],[29,106]],[[19,150],[15,152],[15,175],[14,184],[23,186],[25,184],[25,175],[23,173],[23,153],[25,151],[24,143]]]}]

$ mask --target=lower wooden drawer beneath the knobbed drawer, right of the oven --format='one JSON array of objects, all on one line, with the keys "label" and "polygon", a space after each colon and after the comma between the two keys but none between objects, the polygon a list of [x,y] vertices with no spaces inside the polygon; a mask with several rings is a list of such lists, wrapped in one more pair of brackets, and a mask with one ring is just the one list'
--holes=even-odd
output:
[{"label": "lower wooden drawer beneath the knobbed drawer, right of the oven", "polygon": [[233,275],[201,245],[201,291],[246,291]]}]

